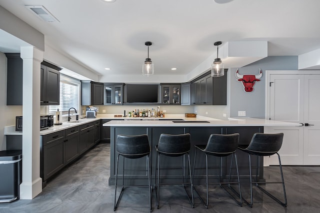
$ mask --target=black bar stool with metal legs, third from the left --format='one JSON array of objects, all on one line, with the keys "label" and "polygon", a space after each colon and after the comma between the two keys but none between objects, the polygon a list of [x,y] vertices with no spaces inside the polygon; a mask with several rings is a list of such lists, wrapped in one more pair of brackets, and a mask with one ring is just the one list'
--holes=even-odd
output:
[{"label": "black bar stool with metal legs, third from the left", "polygon": [[[196,194],[199,196],[200,200],[204,204],[204,207],[207,209],[208,208],[208,185],[212,184],[219,184],[222,189],[225,190],[234,200],[235,202],[239,205],[242,206],[242,199],[241,199],[241,188],[240,188],[240,180],[239,180],[239,171],[238,171],[238,165],[237,165],[237,160],[236,160],[236,155],[235,151],[238,147],[239,143],[239,134],[234,133],[230,135],[220,135],[220,134],[211,134],[208,142],[206,145],[195,145],[195,154],[194,154],[194,165],[193,165],[193,182],[194,182],[194,170],[195,170],[195,163],[196,163],[196,152],[197,150],[205,154],[205,171],[206,171],[206,203],[204,203],[203,199],[200,197],[198,192],[196,191],[195,187],[193,187],[194,191]],[[226,157],[231,155],[231,163],[230,163],[230,170],[229,170],[229,179],[228,182],[222,182],[221,181],[221,168],[211,168],[211,169],[219,169],[220,171],[220,180],[219,183],[208,183],[208,155],[211,156],[216,156],[220,158],[220,165],[222,163],[222,157]],[[236,167],[236,175],[237,175],[237,182],[231,182],[231,170],[232,170],[232,162],[233,162],[233,156],[235,160],[235,167]],[[237,199],[230,193],[228,192],[223,185],[227,184],[228,188],[236,194],[240,201],[237,201]],[[239,187],[239,193],[237,193],[232,187],[231,184],[237,184]]]}]

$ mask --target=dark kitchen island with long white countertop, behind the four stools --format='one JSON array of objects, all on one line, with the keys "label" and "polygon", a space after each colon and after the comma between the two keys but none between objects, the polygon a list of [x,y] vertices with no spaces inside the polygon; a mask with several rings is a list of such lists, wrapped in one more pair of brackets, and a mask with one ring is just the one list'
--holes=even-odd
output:
[{"label": "dark kitchen island with long white countertop, behind the four stools", "polygon": [[[114,185],[115,181],[115,163],[116,163],[116,137],[118,134],[122,135],[140,135],[146,134],[148,136],[149,144],[151,147],[151,174],[152,179],[155,177],[155,160],[156,150],[155,145],[158,143],[160,134],[185,134],[191,135],[191,150],[190,150],[190,161],[191,168],[193,167],[194,159],[194,145],[206,144],[210,134],[232,134],[239,133],[239,145],[248,145],[254,133],[263,133],[263,127],[265,126],[300,126],[301,124],[272,121],[265,119],[256,118],[228,118],[226,120],[219,120],[213,118],[205,118],[198,116],[197,118],[181,118],[181,117],[166,117],[166,118],[155,118],[155,119],[144,119],[144,118],[132,118],[125,120],[112,120],[104,123],[102,126],[110,127],[110,177],[109,185]],[[248,180],[248,157],[247,154],[236,151],[239,175],[240,179]],[[205,180],[205,157],[199,155],[197,157],[196,168],[194,174],[194,183],[203,184]],[[165,182],[176,182],[176,179],[181,178],[181,161],[171,158],[162,158],[162,165],[169,170],[163,171],[160,174],[161,179],[165,179]],[[208,163],[211,167],[221,167],[222,179],[228,178],[228,168],[231,156],[220,160],[215,157],[209,157]],[[187,173],[187,159],[184,158],[184,178],[188,178]],[[119,167],[123,165],[123,159],[119,159]],[[233,164],[234,165],[234,164]],[[146,169],[145,159],[136,159],[134,161],[126,161],[124,169]],[[252,174],[258,174],[258,179],[263,181],[263,158],[252,157]],[[235,170],[232,170],[231,178],[235,178]],[[119,171],[119,175],[121,175]],[[211,170],[209,173],[210,179],[219,179],[219,170]],[[141,184],[147,179],[145,172],[131,172],[126,173],[126,177],[131,179],[130,184]]]}]

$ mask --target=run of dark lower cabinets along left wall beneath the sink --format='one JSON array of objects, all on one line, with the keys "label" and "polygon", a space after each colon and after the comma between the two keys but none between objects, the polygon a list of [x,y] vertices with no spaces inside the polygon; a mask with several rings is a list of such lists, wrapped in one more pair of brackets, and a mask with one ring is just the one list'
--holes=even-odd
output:
[{"label": "run of dark lower cabinets along left wall beneath the sink", "polygon": [[[97,128],[98,127],[98,128]],[[100,120],[40,137],[40,177],[46,180],[100,140]]]}]

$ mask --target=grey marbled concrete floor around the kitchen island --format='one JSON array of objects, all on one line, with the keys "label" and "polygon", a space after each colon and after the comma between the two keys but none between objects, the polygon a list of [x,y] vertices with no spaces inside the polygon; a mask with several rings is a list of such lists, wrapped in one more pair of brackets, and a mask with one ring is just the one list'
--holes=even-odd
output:
[{"label": "grey marbled concrete floor around the kitchen island", "polygon": [[[114,186],[108,186],[110,168],[109,144],[98,144],[78,161],[62,170],[33,200],[0,204],[0,213],[112,213]],[[264,168],[264,178],[278,178],[278,167]],[[210,186],[209,208],[205,209],[195,194],[194,208],[179,186],[161,186],[160,207],[156,209],[153,191],[152,210],[156,213],[315,213],[320,211],[320,167],[283,166],[288,205],[282,207],[253,188],[253,207],[239,207],[218,186]],[[205,191],[198,190],[204,198]],[[199,189],[199,187],[197,187]],[[281,185],[267,186],[281,196]],[[248,198],[248,186],[241,185],[242,196]],[[116,213],[149,212],[146,188],[127,188]]]}]

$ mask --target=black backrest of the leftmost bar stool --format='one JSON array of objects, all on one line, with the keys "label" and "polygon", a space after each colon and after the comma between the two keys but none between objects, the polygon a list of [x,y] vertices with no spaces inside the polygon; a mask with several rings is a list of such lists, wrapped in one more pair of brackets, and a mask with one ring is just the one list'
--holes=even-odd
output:
[{"label": "black backrest of the leftmost bar stool", "polygon": [[116,151],[126,158],[141,158],[150,153],[147,135],[117,135]]}]

